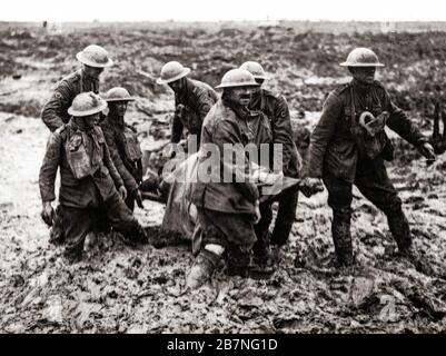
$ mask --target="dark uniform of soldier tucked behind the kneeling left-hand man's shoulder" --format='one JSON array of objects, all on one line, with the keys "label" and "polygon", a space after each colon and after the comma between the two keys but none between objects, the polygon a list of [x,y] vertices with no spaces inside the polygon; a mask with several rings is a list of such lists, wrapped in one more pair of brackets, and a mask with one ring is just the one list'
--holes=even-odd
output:
[{"label": "dark uniform of soldier tucked behind the kneeling left-hand man's shoulder", "polygon": [[135,208],[135,192],[142,181],[142,152],[137,135],[122,117],[112,117],[111,111],[101,122],[103,136],[110,151],[111,160],[126,186],[128,197],[127,206]]}]

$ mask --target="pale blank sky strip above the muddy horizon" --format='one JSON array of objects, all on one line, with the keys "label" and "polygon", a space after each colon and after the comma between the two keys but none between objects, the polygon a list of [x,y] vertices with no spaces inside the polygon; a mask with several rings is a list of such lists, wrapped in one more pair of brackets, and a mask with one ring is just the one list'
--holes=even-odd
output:
[{"label": "pale blank sky strip above the muddy horizon", "polygon": [[0,21],[446,21],[445,10],[440,0],[11,0]]}]

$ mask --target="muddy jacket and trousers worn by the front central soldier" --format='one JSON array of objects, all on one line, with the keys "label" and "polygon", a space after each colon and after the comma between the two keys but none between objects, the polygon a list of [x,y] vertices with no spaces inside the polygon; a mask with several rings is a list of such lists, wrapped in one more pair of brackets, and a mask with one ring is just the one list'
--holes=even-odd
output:
[{"label": "muddy jacket and trousers worn by the front central soldier", "polygon": [[[230,102],[219,100],[205,119],[201,131],[200,165],[208,159],[204,155],[207,144],[219,148],[224,162],[219,172],[220,182],[192,184],[191,202],[197,206],[198,220],[204,231],[204,246],[217,244],[228,250],[229,274],[244,274],[250,261],[251,248],[257,240],[254,229],[255,201],[259,192],[254,182],[248,180],[249,160],[242,147],[252,142],[254,136],[248,127],[249,111],[235,108]],[[251,127],[252,130],[252,127]],[[224,160],[224,145],[234,145],[234,150],[244,162]],[[228,157],[226,157],[228,159]],[[226,170],[226,172],[225,172]],[[231,182],[224,182],[224,177],[232,177]],[[238,182],[235,176],[242,177]],[[241,181],[240,181],[241,180]]]}]

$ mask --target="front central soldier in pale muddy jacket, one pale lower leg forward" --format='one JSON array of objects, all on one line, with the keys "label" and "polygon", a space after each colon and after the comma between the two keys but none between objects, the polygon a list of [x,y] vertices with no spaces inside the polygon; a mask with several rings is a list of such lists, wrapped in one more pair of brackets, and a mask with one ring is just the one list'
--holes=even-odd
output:
[{"label": "front central soldier in pale muddy jacket, one pale lower leg forward", "polygon": [[[247,107],[250,88],[257,86],[247,70],[229,70],[217,87],[224,89],[221,99],[204,122],[198,171],[206,165],[204,150],[211,149],[212,145],[218,148],[222,169],[218,181],[198,179],[192,185],[191,202],[197,206],[204,248],[187,276],[187,285],[191,288],[199,287],[211,276],[225,250],[228,275],[246,276],[250,264],[252,245],[257,239],[254,226],[260,219],[260,211],[259,192],[247,178],[249,160],[244,147],[251,142]],[[224,145],[229,145],[237,157],[245,159],[234,161],[234,157],[224,156]],[[232,177],[231,182],[224,182],[227,176]],[[201,177],[200,174],[198,177]]]}]

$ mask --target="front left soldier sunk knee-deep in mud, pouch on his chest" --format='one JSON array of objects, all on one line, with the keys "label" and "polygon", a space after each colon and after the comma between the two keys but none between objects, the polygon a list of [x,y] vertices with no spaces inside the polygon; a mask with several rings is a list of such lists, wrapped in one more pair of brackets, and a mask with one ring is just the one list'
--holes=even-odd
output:
[{"label": "front left soldier sunk knee-deep in mud, pouch on his chest", "polygon": [[145,230],[121,198],[126,197],[123,181],[110,159],[102,130],[95,123],[106,107],[107,102],[93,92],[78,95],[68,109],[70,121],[51,134],[40,168],[41,216],[51,226],[51,201],[60,167],[65,257],[70,263],[81,259],[87,234],[98,228],[99,211],[106,211],[111,226],[127,238],[147,241]]}]

